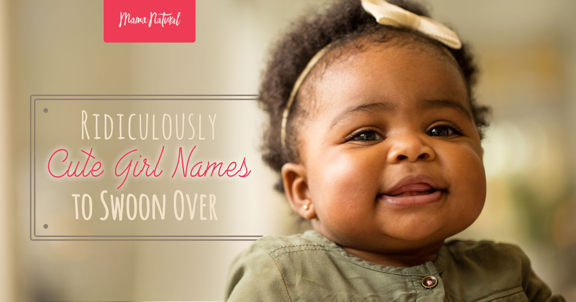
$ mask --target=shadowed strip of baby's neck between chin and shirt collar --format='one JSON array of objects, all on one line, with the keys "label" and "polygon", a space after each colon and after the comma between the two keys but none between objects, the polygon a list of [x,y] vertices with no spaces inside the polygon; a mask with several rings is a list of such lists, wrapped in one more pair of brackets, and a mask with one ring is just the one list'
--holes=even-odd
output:
[{"label": "shadowed strip of baby's neck between chin and shirt collar", "polygon": [[374,253],[353,249],[351,247],[342,247],[348,254],[358,257],[363,261],[374,263],[382,266],[411,267],[421,265],[427,261],[434,261],[438,255],[440,247],[444,242],[431,244],[424,249],[411,253]]}]

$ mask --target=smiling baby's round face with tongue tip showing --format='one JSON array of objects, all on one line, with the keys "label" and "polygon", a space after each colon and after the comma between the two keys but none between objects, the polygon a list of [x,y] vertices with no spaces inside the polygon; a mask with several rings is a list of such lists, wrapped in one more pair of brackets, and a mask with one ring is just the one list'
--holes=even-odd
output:
[{"label": "smiling baby's round face with tongue tip showing", "polygon": [[[450,60],[439,49],[371,47],[315,77],[317,105],[298,132],[311,205],[292,202],[302,216],[319,217],[314,229],[384,253],[442,242],[476,220],[486,197],[483,150]],[[408,181],[420,183],[392,197],[418,175],[429,179]]]}]

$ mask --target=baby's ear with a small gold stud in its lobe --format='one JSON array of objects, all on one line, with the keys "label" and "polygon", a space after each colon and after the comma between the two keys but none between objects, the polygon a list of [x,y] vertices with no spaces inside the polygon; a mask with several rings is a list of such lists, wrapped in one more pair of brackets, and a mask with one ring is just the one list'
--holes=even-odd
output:
[{"label": "baby's ear with a small gold stud in its lobe", "polygon": [[300,163],[285,163],[282,166],[281,173],[284,192],[286,192],[290,207],[305,219],[316,217],[312,198],[310,198],[308,190],[306,168]]}]

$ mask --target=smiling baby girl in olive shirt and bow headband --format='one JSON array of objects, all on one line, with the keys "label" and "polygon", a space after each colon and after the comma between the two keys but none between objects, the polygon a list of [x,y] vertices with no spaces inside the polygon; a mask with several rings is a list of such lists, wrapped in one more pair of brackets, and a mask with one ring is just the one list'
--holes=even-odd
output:
[{"label": "smiling baby girl in olive shirt and bow headband", "polygon": [[228,301],[565,301],[520,247],[445,239],[486,198],[467,45],[408,1],[342,0],[304,18],[260,87],[264,160],[313,230],[230,266]]}]

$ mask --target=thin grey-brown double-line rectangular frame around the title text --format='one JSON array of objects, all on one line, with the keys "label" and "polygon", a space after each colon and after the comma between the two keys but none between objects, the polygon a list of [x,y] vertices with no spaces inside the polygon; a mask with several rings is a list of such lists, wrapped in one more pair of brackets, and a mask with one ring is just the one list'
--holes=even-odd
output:
[{"label": "thin grey-brown double-line rectangular frame around the title text", "polygon": [[[257,100],[257,94],[31,94],[30,95],[30,240],[32,241],[254,241],[257,239],[191,239],[202,238],[234,238],[234,237],[262,237],[263,235],[36,235],[36,101],[223,101],[223,100]],[[34,98],[32,97],[51,97]],[[57,98],[52,98],[57,97]],[[61,98],[76,97],[76,98]],[[85,98],[85,97],[109,97],[109,98]],[[118,98],[118,97],[151,97],[151,98]],[[158,98],[158,97],[203,97],[203,98]],[[214,98],[214,97],[255,97],[255,98]],[[34,116],[32,118],[32,109]],[[32,136],[33,135],[33,136]],[[33,137],[33,140],[32,140]],[[34,147],[32,150],[32,146]],[[33,155],[33,156],[32,156]],[[32,160],[33,157],[33,160]],[[32,178],[33,177],[33,178]],[[32,188],[32,180],[34,188]],[[34,220],[32,221],[32,201],[34,202]],[[33,223],[32,223],[33,222]],[[32,236],[32,224],[34,236]],[[98,237],[102,239],[37,239],[37,238],[62,238],[62,237]],[[128,239],[116,239],[128,238]],[[154,238],[154,239],[146,239]],[[169,238],[169,239],[160,239]]]}]

